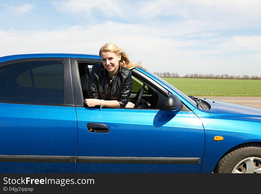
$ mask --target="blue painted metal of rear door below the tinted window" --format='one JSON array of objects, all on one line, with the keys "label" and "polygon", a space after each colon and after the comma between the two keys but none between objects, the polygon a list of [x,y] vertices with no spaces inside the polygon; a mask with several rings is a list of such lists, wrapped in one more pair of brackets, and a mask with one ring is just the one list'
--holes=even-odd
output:
[{"label": "blue painted metal of rear door below the tinted window", "polygon": [[[77,121],[74,107],[9,103],[0,103],[0,107],[0,155],[76,157]],[[7,165],[7,162],[0,162],[0,171],[75,172],[75,163],[26,163],[10,162]]]}]

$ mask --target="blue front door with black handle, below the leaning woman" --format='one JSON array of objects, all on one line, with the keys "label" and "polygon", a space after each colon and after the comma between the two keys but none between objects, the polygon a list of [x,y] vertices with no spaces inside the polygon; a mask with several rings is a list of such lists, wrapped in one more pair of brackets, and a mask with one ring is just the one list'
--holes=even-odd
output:
[{"label": "blue front door with black handle, below the leaning woman", "polygon": [[[76,66],[76,62],[72,65]],[[74,92],[79,88],[74,85]],[[84,107],[83,98],[75,109],[78,124],[76,173],[200,171],[204,129],[191,110],[100,110]]]}]

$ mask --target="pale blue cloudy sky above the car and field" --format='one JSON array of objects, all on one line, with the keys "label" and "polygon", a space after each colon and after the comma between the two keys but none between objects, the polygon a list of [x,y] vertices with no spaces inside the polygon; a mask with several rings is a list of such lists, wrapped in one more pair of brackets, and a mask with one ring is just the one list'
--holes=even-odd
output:
[{"label": "pale blue cloudy sky above the car and field", "polygon": [[261,76],[261,0],[0,0],[0,57],[98,55],[150,72]]}]

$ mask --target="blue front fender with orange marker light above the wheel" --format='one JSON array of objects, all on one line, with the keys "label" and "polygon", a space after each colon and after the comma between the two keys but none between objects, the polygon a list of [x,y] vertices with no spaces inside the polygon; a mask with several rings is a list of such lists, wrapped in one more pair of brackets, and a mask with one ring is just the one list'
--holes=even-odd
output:
[{"label": "blue front fender with orange marker light above the wheel", "polygon": [[[202,173],[211,173],[218,160],[231,148],[249,142],[260,142],[261,122],[249,122],[244,119],[218,118],[209,113],[195,109],[203,123],[206,136]],[[214,141],[214,136],[222,136],[224,140]]]}]

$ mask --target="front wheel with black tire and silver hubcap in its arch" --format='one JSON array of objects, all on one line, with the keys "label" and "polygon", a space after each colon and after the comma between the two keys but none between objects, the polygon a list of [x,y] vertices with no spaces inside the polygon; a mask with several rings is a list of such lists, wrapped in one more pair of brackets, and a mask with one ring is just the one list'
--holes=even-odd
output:
[{"label": "front wheel with black tire and silver hubcap in its arch", "polygon": [[219,160],[214,173],[261,173],[261,144],[242,144],[231,149]]}]

